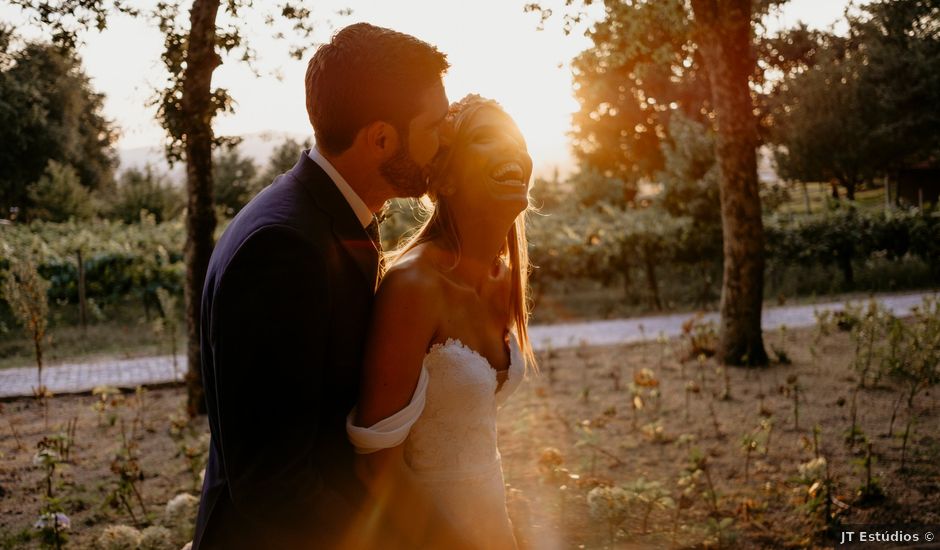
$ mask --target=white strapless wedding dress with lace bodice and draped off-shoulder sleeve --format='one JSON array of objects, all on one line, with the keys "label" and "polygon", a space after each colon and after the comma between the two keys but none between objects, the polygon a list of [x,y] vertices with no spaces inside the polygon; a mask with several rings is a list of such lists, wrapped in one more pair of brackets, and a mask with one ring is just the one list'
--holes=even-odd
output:
[{"label": "white strapless wedding dress with lace bodice and draped off-shoulder sleeve", "polygon": [[436,344],[424,357],[408,406],[369,428],[353,426],[353,411],[346,424],[360,453],[404,442],[405,462],[419,483],[479,548],[514,548],[496,444],[497,408],[525,374],[512,335],[509,354],[508,375],[500,386],[486,358],[460,340]]}]

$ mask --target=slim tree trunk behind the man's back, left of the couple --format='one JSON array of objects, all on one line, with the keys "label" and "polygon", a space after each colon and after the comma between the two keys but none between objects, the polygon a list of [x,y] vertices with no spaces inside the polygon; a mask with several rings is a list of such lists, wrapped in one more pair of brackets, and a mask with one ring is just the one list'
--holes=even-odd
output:
[{"label": "slim tree trunk behind the man's back, left of the couple", "polygon": [[212,255],[215,212],[212,208],[212,73],[222,64],[215,50],[216,15],[220,0],[195,0],[190,10],[182,111],[187,126],[186,151],[186,374],[187,410],[205,413],[199,351],[202,286]]}]

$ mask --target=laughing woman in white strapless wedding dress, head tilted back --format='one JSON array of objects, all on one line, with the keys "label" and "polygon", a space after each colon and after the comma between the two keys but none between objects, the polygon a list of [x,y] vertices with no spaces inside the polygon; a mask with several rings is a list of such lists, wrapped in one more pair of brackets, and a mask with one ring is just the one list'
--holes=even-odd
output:
[{"label": "laughing woman in white strapless wedding dress, head tilted back", "polygon": [[526,329],[532,160],[494,101],[465,97],[444,128],[433,211],[389,256],[347,433],[373,510],[408,546],[515,548],[496,409],[535,365]]}]

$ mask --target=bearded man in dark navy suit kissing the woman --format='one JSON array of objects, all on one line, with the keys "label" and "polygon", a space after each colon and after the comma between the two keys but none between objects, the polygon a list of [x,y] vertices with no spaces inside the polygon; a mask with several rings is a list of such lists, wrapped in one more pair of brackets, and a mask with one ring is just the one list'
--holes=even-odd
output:
[{"label": "bearded man in dark navy suit kissing the woman", "polygon": [[433,46],[365,23],[310,60],[316,147],[242,209],[209,262],[212,441],[194,549],[373,544],[345,419],[379,277],[375,213],[426,191],[447,68]]}]

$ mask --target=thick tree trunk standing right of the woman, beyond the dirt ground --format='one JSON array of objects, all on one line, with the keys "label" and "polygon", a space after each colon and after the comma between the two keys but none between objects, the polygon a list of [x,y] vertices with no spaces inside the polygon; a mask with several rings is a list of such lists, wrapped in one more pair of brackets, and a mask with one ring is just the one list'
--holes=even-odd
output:
[{"label": "thick tree trunk standing right of the woman, beyond the dirt ground", "polygon": [[761,333],[764,226],[757,183],[757,121],[748,88],[754,68],[750,0],[692,0],[696,41],[709,75],[718,132],[724,279],[718,357],[766,365]]}]

